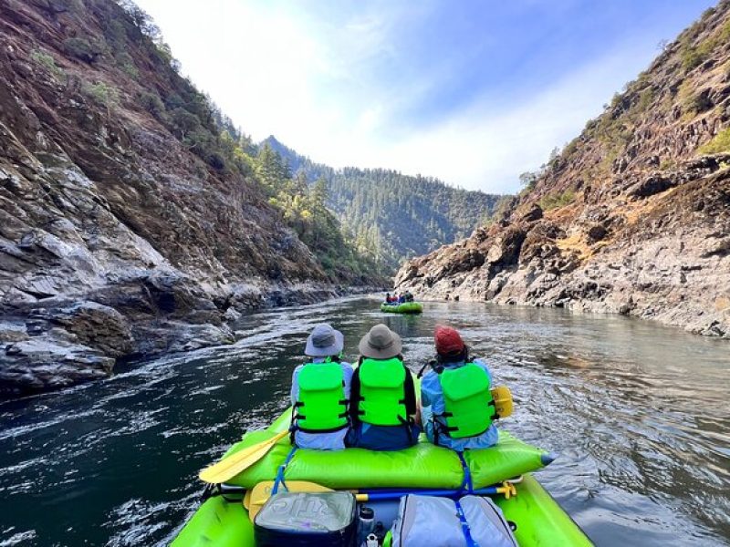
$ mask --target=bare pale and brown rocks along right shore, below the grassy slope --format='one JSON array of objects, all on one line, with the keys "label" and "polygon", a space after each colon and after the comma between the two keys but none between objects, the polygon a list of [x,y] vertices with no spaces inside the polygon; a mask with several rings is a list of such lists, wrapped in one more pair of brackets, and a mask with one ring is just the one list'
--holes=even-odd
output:
[{"label": "bare pale and brown rocks along right shore, below the grassy slope", "polygon": [[721,167],[729,160],[617,181],[610,200],[587,204],[569,223],[532,203],[510,222],[406,263],[396,289],[631,315],[730,338],[730,170]]}]

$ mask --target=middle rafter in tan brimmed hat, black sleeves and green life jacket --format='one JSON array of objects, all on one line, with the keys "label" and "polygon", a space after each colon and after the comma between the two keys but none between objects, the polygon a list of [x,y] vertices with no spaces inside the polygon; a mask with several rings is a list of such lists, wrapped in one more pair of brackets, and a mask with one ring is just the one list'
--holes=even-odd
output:
[{"label": "middle rafter in tan brimmed hat, black sleeves and green life jacket", "polygon": [[400,450],[418,441],[418,412],[411,371],[403,364],[401,337],[375,325],[360,340],[352,377],[350,447]]}]

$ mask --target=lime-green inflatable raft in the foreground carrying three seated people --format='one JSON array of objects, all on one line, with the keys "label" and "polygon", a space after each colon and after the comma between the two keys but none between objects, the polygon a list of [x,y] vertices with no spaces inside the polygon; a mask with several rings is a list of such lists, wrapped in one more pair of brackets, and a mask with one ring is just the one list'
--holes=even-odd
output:
[{"label": "lime-green inflatable raft in the foreground carrying three seated people", "polygon": [[[290,412],[286,411],[268,428],[253,431],[229,449],[225,456],[245,449],[289,427]],[[279,439],[266,457],[229,480],[232,490],[249,490],[257,483],[275,480],[284,467],[286,480],[307,480],[335,490],[350,489],[464,489],[465,477],[470,476],[472,488],[500,483],[515,477],[516,496],[506,499],[496,495],[492,500],[502,509],[508,521],[516,523],[516,540],[523,547],[591,545],[588,537],[570,519],[558,503],[530,474],[553,460],[542,449],[530,446],[500,431],[499,442],[489,449],[467,450],[464,463],[452,450],[433,446],[423,436],[420,442],[397,452],[374,452],[365,449],[345,449],[335,452],[297,449],[288,436]],[[464,468],[464,465],[468,468]],[[243,492],[214,495],[203,501],[192,518],[172,542],[174,547],[245,547],[255,546],[254,524],[242,503]],[[397,501],[393,503],[397,504]],[[366,503],[371,506],[370,502]],[[375,518],[390,528],[385,516],[389,510],[375,508]]]}]

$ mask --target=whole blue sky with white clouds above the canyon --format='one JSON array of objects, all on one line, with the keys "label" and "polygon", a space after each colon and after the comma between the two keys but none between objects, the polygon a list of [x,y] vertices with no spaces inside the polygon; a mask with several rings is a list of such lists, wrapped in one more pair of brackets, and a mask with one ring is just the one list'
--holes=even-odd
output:
[{"label": "whole blue sky with white clouds above the canyon", "polygon": [[577,136],[709,0],[138,0],[255,140],[468,189]]}]

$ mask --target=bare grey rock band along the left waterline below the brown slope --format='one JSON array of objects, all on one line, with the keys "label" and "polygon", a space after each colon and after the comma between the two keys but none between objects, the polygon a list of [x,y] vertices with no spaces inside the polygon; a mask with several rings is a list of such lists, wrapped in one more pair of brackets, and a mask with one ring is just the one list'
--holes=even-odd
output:
[{"label": "bare grey rock band along the left waterline below the brown slope", "polygon": [[211,286],[153,270],[87,294],[4,303],[0,398],[109,377],[131,359],[233,344],[244,315],[374,289],[260,280]]}]

